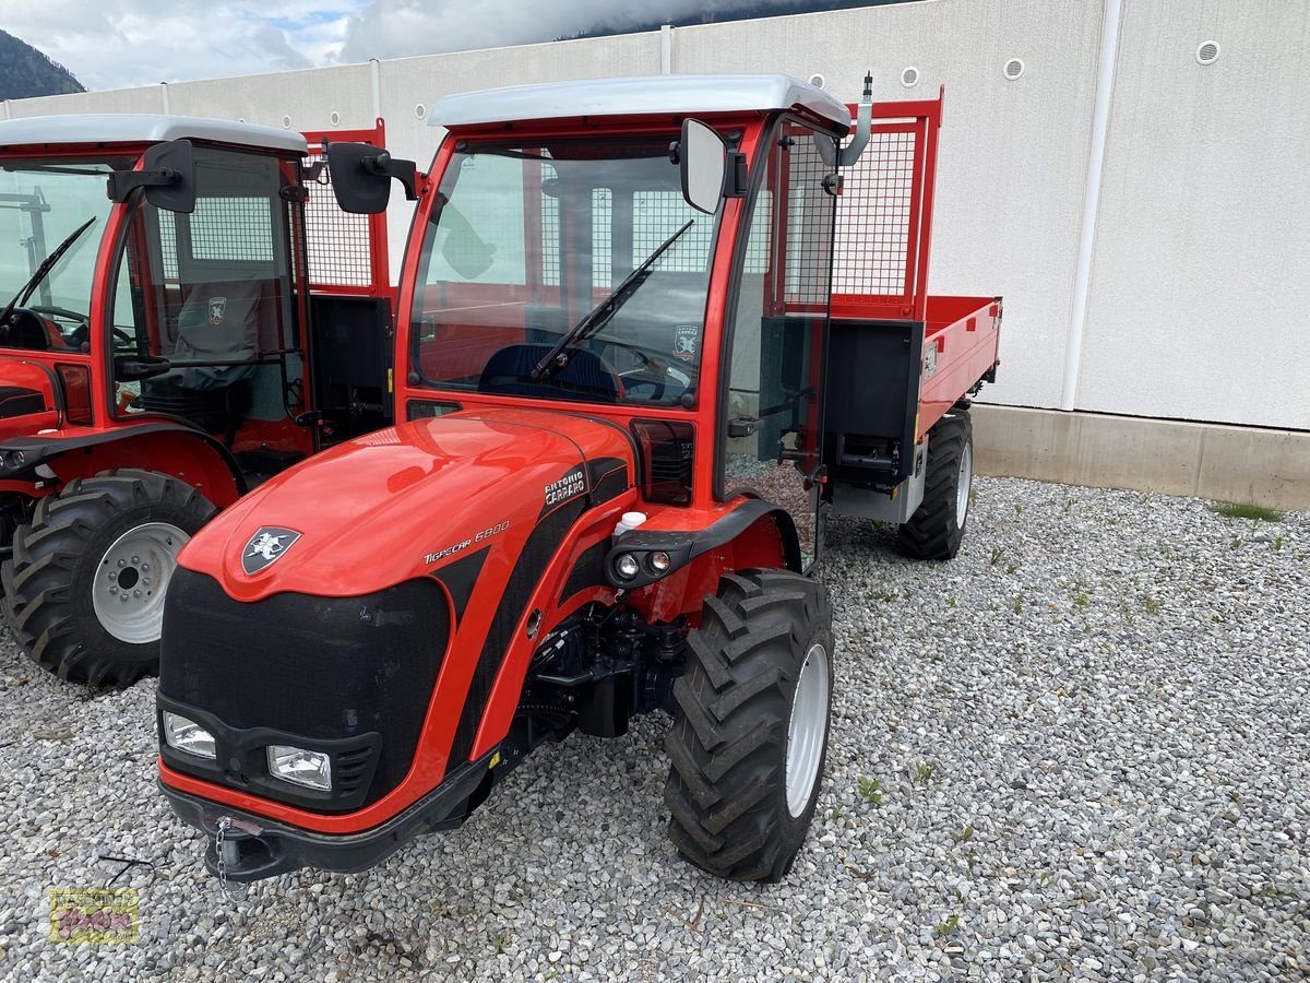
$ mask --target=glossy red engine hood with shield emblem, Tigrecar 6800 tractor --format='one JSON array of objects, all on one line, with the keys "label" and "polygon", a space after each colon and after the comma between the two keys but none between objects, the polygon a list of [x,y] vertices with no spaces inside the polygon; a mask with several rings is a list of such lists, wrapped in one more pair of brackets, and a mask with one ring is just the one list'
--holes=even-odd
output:
[{"label": "glossy red engine hood with shield emblem, Tigrecar 6800 tractor", "polygon": [[597,419],[481,410],[401,423],[261,485],[178,561],[238,600],[367,594],[483,545],[510,560],[542,515],[620,468],[630,485],[631,440]]}]

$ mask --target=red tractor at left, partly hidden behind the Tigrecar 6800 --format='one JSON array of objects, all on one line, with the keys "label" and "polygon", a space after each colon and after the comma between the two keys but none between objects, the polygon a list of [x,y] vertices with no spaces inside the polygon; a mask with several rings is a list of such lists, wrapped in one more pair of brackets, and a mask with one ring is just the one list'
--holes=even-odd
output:
[{"label": "red tractor at left, partly hidden behind the Tigrecar 6800", "polygon": [[[381,144],[383,130],[334,139]],[[0,552],[60,678],[159,665],[176,557],[217,509],[392,421],[383,216],[322,136],[220,119],[0,122]]]}]

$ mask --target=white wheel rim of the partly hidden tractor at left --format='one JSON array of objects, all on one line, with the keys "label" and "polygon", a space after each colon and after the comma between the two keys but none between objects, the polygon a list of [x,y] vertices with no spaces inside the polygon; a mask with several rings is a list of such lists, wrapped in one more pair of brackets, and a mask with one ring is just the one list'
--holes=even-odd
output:
[{"label": "white wheel rim of the partly hidden tractor at left", "polygon": [[130,645],[159,641],[164,594],[177,569],[177,553],[189,539],[177,526],[148,522],[114,540],[92,582],[92,607],[101,628]]}]

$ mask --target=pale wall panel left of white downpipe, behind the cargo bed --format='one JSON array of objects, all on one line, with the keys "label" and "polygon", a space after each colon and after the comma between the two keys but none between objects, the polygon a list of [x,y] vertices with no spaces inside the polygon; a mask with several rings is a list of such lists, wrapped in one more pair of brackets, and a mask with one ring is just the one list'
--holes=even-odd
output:
[{"label": "pale wall panel left of white downpipe, behind the cargo bed", "polygon": [[[1005,296],[984,398],[1058,406],[1100,38],[1098,3],[930,0],[673,31],[673,71],[824,76],[838,98],[946,87],[930,290]],[[1022,58],[1024,75],[1002,68]],[[916,67],[907,89],[901,71]]]}]

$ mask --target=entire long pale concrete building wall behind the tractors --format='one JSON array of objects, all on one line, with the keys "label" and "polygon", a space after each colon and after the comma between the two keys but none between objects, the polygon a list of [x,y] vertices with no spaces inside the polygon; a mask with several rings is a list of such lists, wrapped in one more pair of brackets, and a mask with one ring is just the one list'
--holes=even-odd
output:
[{"label": "entire long pale concrete building wall behind the tractors", "polygon": [[[878,98],[947,88],[931,288],[1003,294],[992,402],[1310,430],[1310,0],[1121,0],[1104,170],[1070,353],[1103,22],[1119,0],[924,0],[671,31],[675,72],[823,75]],[[1220,59],[1197,64],[1203,41]],[[658,73],[662,34],[7,104],[9,115],[160,111],[296,128],[369,126],[431,159],[448,92]],[[1010,81],[1003,66],[1023,59]],[[901,69],[918,68],[907,89]],[[375,104],[376,100],[376,104]],[[422,107],[419,110],[418,107]],[[398,197],[397,197],[398,198]],[[393,204],[393,269],[409,210]],[[1066,362],[1077,387],[1065,393]]]}]

